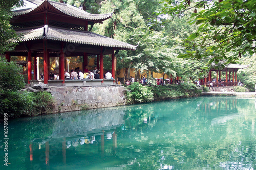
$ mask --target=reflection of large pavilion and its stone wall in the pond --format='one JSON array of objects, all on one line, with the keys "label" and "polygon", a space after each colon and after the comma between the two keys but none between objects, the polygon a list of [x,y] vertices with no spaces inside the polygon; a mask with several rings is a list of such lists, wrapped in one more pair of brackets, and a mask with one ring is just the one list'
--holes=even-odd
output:
[{"label": "reflection of large pavilion and its stone wall in the pond", "polygon": [[[98,113],[95,113],[95,110],[88,110],[87,113],[74,112],[72,115],[62,113],[53,116],[54,127],[48,139],[34,139],[30,142],[31,163],[37,160],[33,159],[33,153],[35,153],[33,150],[35,149],[37,152],[40,149],[45,150],[46,165],[50,164],[54,154],[58,154],[57,151],[61,151],[62,163],[66,164],[67,152],[72,152],[81,146],[84,148],[97,147],[98,151],[104,155],[105,141],[108,143],[112,141],[112,150],[115,152],[117,148],[115,129],[124,123],[124,110],[120,112],[121,110],[107,108],[98,109]],[[80,139],[85,139],[85,142]]]}]

